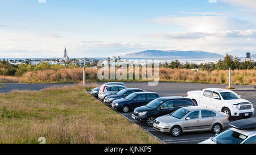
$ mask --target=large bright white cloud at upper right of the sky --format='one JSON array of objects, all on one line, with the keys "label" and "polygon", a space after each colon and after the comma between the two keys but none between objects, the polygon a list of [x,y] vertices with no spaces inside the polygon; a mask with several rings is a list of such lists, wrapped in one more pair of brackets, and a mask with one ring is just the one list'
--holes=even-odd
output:
[{"label": "large bright white cloud at upper right of the sky", "polygon": [[187,32],[213,33],[225,30],[247,30],[255,27],[255,23],[249,20],[228,18],[226,16],[167,16],[152,21],[159,24],[184,27]]}]

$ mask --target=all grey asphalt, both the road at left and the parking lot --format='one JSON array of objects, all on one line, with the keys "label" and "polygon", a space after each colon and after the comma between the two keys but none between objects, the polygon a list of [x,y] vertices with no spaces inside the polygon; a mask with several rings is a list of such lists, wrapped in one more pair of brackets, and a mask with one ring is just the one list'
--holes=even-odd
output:
[{"label": "all grey asphalt, both the road at left and the parking lot", "polygon": [[[101,85],[105,82],[96,82],[98,85]],[[6,87],[0,89],[0,93],[9,93],[13,90],[42,90],[47,87],[64,87],[72,86],[74,83],[44,83],[44,84],[28,84],[28,83],[2,83]],[[140,88],[146,91],[152,91],[158,93],[161,97],[166,96],[181,96],[185,97],[187,91],[192,90],[203,90],[205,88],[215,87],[215,88],[226,88],[227,85],[219,84],[205,84],[205,83],[184,83],[184,82],[159,82],[158,86],[148,86],[148,82],[125,82],[125,85],[129,88]],[[233,85],[236,89],[254,89],[254,86],[242,86],[242,85]],[[256,91],[237,91],[237,94],[240,94],[242,98],[249,100],[254,104],[256,108]],[[110,107],[111,108],[111,107]],[[183,144],[183,143],[200,143],[201,141],[207,140],[209,137],[214,136],[211,132],[195,132],[195,133],[184,133],[180,137],[171,137],[167,133],[162,133],[155,131],[154,128],[148,127],[144,123],[140,123],[137,120],[131,118],[131,114],[123,114],[118,112],[126,119],[130,120],[132,123],[136,123],[144,131],[149,133],[152,136],[155,136],[162,143],[174,143],[174,144]],[[254,114],[252,117],[256,117]],[[237,118],[241,119],[241,118]]]}]

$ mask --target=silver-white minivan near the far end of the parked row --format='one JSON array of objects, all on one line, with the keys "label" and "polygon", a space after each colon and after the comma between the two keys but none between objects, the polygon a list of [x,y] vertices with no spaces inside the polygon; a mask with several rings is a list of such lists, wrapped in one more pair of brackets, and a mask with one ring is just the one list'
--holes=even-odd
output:
[{"label": "silver-white minivan near the far end of the parked row", "polygon": [[120,90],[126,89],[127,87],[121,85],[102,85],[98,91],[98,98],[104,100],[106,96],[113,95]]}]

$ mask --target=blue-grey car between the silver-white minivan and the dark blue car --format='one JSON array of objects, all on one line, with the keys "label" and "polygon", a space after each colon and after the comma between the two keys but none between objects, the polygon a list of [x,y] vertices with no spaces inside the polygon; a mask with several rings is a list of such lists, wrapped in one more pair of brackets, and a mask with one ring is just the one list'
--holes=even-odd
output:
[{"label": "blue-grey car between the silver-white minivan and the dark blue car", "polygon": [[133,94],[133,93],[136,93],[136,92],[142,92],[142,91],[145,92],[144,90],[138,89],[138,88],[123,89],[121,91],[118,91],[118,93],[116,93],[114,95],[109,95],[109,96],[105,97],[104,102],[107,103],[107,104],[111,104],[113,102],[113,100],[126,98],[130,94]]}]

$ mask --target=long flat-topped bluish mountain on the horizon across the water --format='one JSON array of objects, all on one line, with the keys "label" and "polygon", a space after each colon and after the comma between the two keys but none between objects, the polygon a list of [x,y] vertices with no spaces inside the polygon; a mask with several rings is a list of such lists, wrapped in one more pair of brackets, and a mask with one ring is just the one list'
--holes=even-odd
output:
[{"label": "long flat-topped bluish mountain on the horizon across the water", "polygon": [[159,51],[147,50],[136,53],[129,53],[124,57],[184,57],[184,58],[207,58],[207,57],[224,57],[217,53],[203,51]]}]

